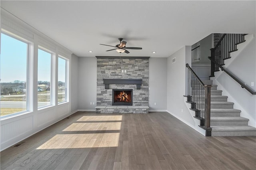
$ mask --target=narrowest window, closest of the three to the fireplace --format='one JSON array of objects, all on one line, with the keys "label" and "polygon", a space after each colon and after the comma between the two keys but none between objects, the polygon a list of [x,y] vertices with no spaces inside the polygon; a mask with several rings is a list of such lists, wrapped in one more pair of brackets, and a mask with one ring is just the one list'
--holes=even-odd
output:
[{"label": "narrowest window, closest of the three to the fireplace", "polygon": [[67,59],[58,57],[58,103],[67,101]]}]

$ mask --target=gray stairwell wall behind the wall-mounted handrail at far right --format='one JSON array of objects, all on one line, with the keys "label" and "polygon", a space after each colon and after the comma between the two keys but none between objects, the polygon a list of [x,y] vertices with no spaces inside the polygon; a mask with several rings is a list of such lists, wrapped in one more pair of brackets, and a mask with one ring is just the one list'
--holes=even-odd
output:
[{"label": "gray stairwell wall behind the wall-mounted handrail at far right", "polygon": [[[256,39],[255,37],[252,41],[244,47],[244,49],[237,55],[237,57],[228,65],[227,69],[231,71],[234,75],[240,78],[247,85],[251,85],[254,82],[254,87],[250,86],[254,91],[256,91]],[[251,95],[246,89],[241,89],[241,86],[234,81],[226,73],[222,72],[216,80],[220,83],[223,89],[227,91],[231,96],[228,98],[234,99],[235,109],[242,110],[241,116],[248,119],[249,125],[256,126],[256,95]],[[218,87],[219,89],[220,87]],[[232,98],[231,98],[232,97]],[[238,107],[239,104],[242,108]],[[246,111],[248,115],[244,112]]]}]

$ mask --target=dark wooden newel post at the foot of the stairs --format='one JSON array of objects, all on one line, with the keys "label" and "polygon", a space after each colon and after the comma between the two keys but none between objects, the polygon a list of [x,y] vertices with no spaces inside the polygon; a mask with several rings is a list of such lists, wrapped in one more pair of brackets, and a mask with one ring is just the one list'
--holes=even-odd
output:
[{"label": "dark wooden newel post at the foot of the stairs", "polygon": [[204,128],[206,129],[205,136],[212,136],[212,128],[210,127],[211,121],[211,87],[212,85],[205,85],[205,115],[204,115]]}]

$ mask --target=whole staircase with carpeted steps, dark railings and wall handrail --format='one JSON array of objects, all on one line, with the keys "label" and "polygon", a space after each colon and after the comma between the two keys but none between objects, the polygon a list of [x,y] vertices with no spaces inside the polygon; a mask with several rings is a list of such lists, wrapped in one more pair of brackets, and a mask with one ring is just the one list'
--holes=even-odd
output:
[{"label": "whole staircase with carpeted steps, dark railings and wall handrail", "polygon": [[[241,47],[241,44],[246,42],[244,36],[246,34],[223,34],[217,45],[210,49],[211,57],[208,57],[211,60],[210,77],[214,77],[214,72],[221,69],[242,88],[256,95],[253,89],[224,66],[224,61],[231,58],[230,53],[238,51],[237,45]],[[228,102],[228,96],[222,96],[222,90],[218,90],[217,85],[212,85],[212,80],[202,81],[188,64],[186,67],[188,68],[188,93],[184,97],[187,97],[186,103],[190,103],[190,113],[199,120],[199,123],[195,121],[196,126],[205,130],[205,136],[256,136],[256,128],[248,126],[249,119],[240,117],[241,111],[234,109],[234,103]],[[198,132],[203,134],[200,130]]]}]

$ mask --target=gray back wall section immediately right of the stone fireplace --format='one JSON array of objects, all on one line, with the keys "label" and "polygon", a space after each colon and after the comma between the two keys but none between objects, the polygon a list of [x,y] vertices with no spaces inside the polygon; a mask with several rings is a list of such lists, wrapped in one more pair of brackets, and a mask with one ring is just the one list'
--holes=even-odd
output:
[{"label": "gray back wall section immediately right of the stone fireplace", "polygon": [[[149,99],[151,111],[166,110],[167,58],[149,58]],[[154,105],[156,103],[156,105]]]}]

